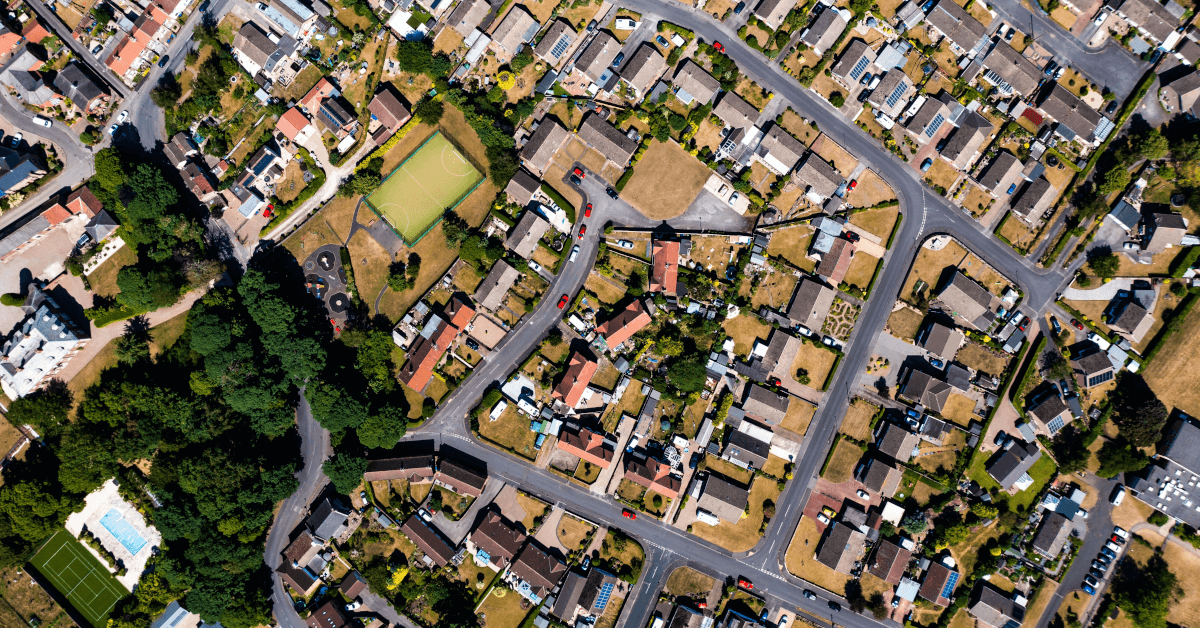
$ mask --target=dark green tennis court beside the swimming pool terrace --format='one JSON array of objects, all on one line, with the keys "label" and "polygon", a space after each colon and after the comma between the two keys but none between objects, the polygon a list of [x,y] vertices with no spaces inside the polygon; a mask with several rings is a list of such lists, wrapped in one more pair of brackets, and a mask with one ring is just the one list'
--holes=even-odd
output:
[{"label": "dark green tennis court beside the swimming pool terrace", "polygon": [[66,530],[60,530],[29,561],[50,586],[96,628],[130,592]]}]

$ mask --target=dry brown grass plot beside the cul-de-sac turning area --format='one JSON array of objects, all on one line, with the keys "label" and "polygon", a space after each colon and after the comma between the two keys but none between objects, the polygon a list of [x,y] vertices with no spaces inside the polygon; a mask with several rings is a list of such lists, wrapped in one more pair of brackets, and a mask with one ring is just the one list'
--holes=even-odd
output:
[{"label": "dry brown grass plot beside the cul-de-sac turning area", "polygon": [[634,167],[622,197],[655,220],[683,214],[704,187],[712,172],[674,142],[650,143]]}]

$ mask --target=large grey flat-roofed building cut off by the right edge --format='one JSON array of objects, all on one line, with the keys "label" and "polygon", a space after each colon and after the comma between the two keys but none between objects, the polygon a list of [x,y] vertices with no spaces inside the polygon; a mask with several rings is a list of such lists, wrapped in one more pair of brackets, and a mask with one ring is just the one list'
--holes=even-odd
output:
[{"label": "large grey flat-roofed building cut off by the right edge", "polygon": [[1134,497],[1192,527],[1200,527],[1200,427],[1192,419],[1174,419],[1158,442],[1158,451],[1145,471],[1127,473]]}]

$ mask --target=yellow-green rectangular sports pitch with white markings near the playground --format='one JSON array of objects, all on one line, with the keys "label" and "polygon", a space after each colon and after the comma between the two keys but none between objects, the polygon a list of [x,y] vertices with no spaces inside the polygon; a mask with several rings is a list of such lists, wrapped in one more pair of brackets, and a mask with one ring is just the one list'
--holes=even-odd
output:
[{"label": "yellow-green rectangular sports pitch with white markings near the playground", "polygon": [[367,203],[412,246],[484,180],[440,132],[388,175]]}]

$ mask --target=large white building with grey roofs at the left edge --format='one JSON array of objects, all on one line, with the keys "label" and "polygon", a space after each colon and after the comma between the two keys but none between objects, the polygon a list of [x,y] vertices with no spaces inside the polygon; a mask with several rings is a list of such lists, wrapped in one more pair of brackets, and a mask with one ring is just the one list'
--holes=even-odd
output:
[{"label": "large white building with grey roofs at the left edge", "polygon": [[59,377],[90,339],[90,325],[77,325],[41,286],[30,283],[28,291],[20,306],[25,318],[0,346],[0,388],[8,399]]}]

